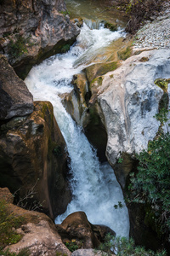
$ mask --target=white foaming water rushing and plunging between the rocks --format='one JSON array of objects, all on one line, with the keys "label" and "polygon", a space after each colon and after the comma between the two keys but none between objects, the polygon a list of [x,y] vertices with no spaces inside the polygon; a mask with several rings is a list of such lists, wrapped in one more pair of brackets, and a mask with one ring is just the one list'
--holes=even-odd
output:
[{"label": "white foaming water rushing and plunging between the rocks", "polygon": [[71,212],[83,211],[92,224],[105,224],[116,231],[116,236],[128,236],[127,207],[114,208],[118,201],[124,204],[122,189],[116,182],[114,172],[108,163],[99,164],[94,149],[59,98],[60,93],[72,90],[72,76],[80,73],[102,47],[120,37],[121,31],[111,32],[103,27],[91,30],[84,24],[77,44],[68,53],[54,55],[33,67],[25,82],[34,100],[52,102],[71,157],[73,198],[66,212],[56,218],[56,223],[61,223]]}]

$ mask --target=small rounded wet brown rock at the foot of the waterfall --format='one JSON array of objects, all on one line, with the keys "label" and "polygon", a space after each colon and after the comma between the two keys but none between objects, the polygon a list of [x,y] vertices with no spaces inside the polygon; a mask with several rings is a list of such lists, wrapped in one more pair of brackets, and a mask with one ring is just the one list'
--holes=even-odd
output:
[{"label": "small rounded wet brown rock at the foot of the waterfall", "polygon": [[105,235],[115,232],[104,225],[94,225],[88,222],[85,212],[71,213],[62,224],[56,225],[62,241],[75,240],[77,245],[82,248],[99,247],[101,241],[104,241]]}]

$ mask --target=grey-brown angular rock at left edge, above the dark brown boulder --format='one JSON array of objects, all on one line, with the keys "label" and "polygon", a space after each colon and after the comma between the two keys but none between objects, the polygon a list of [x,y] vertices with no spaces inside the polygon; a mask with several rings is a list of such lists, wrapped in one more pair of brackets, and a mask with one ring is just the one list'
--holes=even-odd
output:
[{"label": "grey-brown angular rock at left edge, above the dark brown boulder", "polygon": [[0,119],[33,112],[33,96],[7,59],[0,55]]}]

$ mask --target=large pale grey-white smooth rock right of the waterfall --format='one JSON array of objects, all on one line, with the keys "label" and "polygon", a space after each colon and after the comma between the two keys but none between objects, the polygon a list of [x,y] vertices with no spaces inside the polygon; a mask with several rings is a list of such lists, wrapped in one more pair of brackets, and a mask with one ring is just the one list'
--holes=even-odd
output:
[{"label": "large pale grey-white smooth rock right of the waterfall", "polygon": [[[103,77],[98,101],[105,116],[106,155],[112,166],[122,152],[139,153],[156,136],[160,123],[154,116],[163,90],[154,81],[170,77],[169,57],[169,50],[133,55]],[[146,61],[140,61],[143,58]],[[124,173],[125,179],[128,172]]]}]

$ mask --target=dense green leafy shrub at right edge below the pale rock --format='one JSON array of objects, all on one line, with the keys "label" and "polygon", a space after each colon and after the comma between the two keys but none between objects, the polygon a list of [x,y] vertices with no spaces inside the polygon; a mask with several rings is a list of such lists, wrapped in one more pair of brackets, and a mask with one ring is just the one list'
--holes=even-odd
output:
[{"label": "dense green leafy shrub at right edge below the pale rock", "polygon": [[157,228],[170,231],[170,134],[161,133],[137,154],[138,173],[131,174],[131,200],[150,205]]}]

